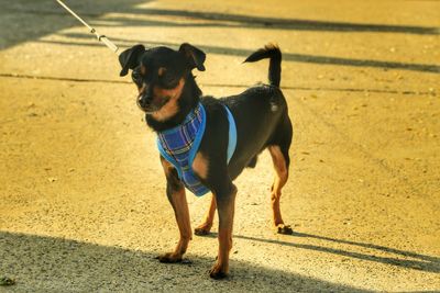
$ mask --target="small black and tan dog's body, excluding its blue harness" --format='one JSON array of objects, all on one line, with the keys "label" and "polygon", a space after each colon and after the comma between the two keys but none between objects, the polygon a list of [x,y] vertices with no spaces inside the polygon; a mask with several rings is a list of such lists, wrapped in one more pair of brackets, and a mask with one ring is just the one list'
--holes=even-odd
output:
[{"label": "small black and tan dog's body, excluding its blue harness", "polygon": [[[219,251],[210,277],[224,278],[229,271],[229,252],[232,247],[232,222],[237,188],[233,180],[246,167],[255,167],[264,149],[271,153],[275,180],[271,189],[274,224],[280,234],[292,234],[279,211],[282,188],[288,178],[289,147],[293,137],[286,100],[279,89],[282,53],[267,45],[248,57],[245,61],[270,58],[270,84],[254,86],[244,92],[215,99],[201,97],[191,74],[194,68],[204,71],[206,55],[189,44],[178,50],[168,47],[145,49],[136,45],[124,50],[119,60],[121,76],[132,70],[139,89],[138,104],[145,112],[147,125],[157,134],[182,124],[201,103],[206,111],[206,126],[199,148],[191,164],[194,173],[212,192],[211,205],[196,235],[207,235],[212,226],[216,209],[219,213]],[[230,110],[235,122],[237,145],[228,164]],[[158,257],[161,262],[178,262],[185,253],[193,233],[189,221],[185,185],[173,164],[161,156],[165,171],[166,193],[174,209],[180,239],[175,251]]]}]

